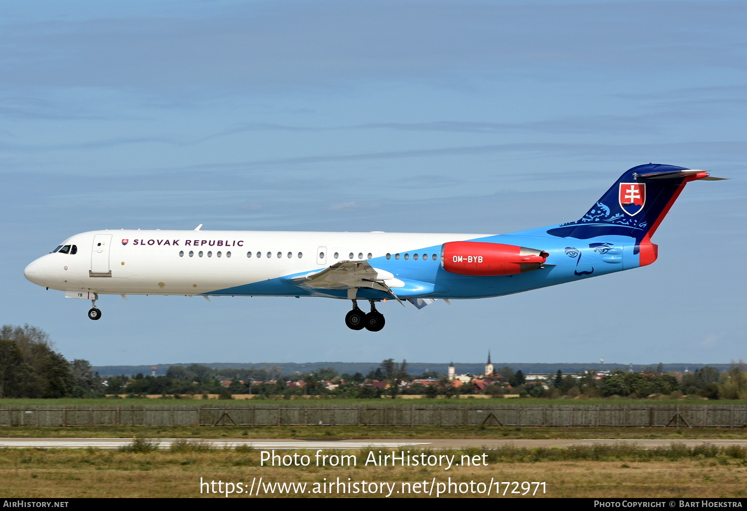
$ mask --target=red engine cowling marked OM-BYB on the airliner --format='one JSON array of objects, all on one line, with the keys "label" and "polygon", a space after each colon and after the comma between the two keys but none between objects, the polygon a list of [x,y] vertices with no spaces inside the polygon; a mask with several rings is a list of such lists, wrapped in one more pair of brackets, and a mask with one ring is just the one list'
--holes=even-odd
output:
[{"label": "red engine cowling marked OM-BYB on the airliner", "polygon": [[515,275],[539,270],[549,255],[516,245],[449,241],[441,247],[441,267],[459,275]]}]

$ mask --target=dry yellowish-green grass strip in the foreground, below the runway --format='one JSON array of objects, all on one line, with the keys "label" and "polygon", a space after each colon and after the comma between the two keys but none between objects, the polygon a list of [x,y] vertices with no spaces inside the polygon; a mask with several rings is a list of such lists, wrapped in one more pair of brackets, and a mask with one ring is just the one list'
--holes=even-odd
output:
[{"label": "dry yellowish-green grass strip in the foreground, below the runway", "polygon": [[[147,445],[141,445],[147,447]],[[421,451],[410,450],[411,455]],[[426,455],[481,455],[483,450],[422,451]],[[303,451],[302,451],[303,453]],[[327,450],[327,454],[335,451]],[[160,498],[246,498],[252,483],[260,497],[382,497],[390,491],[392,497],[433,498],[420,486],[426,481],[447,488],[447,478],[463,488],[442,497],[487,497],[486,486],[500,483],[500,498],[521,497],[520,482],[536,481],[527,486],[527,498],[532,489],[542,497],[665,497],[665,498],[734,498],[746,495],[747,450],[741,447],[684,447],[672,445],[657,449],[634,446],[571,447],[567,449],[503,447],[487,451],[486,465],[441,466],[376,466],[366,465],[368,451],[337,451],[355,454],[356,464],[350,466],[260,466],[261,454],[256,450],[207,449],[204,446],[175,445],[170,450],[99,449],[0,449],[0,495],[5,498],[75,498],[75,497],[160,497]],[[232,483],[230,495],[208,493],[202,480]],[[326,482],[348,480],[391,490],[358,492],[314,492]],[[510,483],[516,481],[514,485]],[[241,494],[235,492],[241,483]],[[278,489],[273,483],[306,483],[303,491]],[[480,486],[475,486],[481,483]],[[540,483],[545,483],[539,486]],[[267,492],[268,486],[275,486]],[[360,486],[359,486],[360,487]],[[470,492],[470,488],[478,492]],[[371,486],[368,486],[371,489]],[[202,492],[201,492],[202,490]],[[427,490],[427,487],[426,487]],[[511,491],[514,491],[512,495]],[[404,494],[404,495],[403,495]],[[252,495],[254,496],[254,495]],[[496,497],[495,491],[491,497]]]}]

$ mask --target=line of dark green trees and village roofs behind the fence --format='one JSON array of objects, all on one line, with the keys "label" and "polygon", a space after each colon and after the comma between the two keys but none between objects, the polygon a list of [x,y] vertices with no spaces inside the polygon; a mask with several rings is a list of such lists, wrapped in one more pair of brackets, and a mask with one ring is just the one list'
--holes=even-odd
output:
[{"label": "line of dark green trees and village roofs behind the fence", "polygon": [[[172,365],[164,376],[145,374],[102,378],[83,359],[69,362],[55,351],[49,335],[35,326],[0,328],[0,397],[106,397],[148,394],[180,397],[184,394],[255,394],[260,398],[313,395],[330,398],[456,397],[470,394],[518,394],[521,397],[633,397],[747,399],[747,371],[743,363],[728,371],[706,366],[684,374],[664,372],[663,365],[642,371],[615,369],[607,374],[585,371],[562,374],[560,369],[544,379],[527,381],[521,370],[509,366],[489,377],[467,375],[465,382],[449,380],[430,371],[412,375],[406,360],[385,359],[368,374],[338,374],[333,368],[308,373],[283,374],[279,366],[214,369],[206,365]],[[470,378],[471,377],[471,378]],[[423,380],[418,383],[414,380]]]}]

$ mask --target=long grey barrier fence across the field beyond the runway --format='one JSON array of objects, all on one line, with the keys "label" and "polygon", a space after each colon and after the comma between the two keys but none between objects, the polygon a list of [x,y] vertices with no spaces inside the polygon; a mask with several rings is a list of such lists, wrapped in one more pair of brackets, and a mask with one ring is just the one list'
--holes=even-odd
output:
[{"label": "long grey barrier fence across the field beyond the runway", "polygon": [[[489,405],[489,406],[486,406]],[[745,405],[5,406],[2,426],[747,427]]]}]

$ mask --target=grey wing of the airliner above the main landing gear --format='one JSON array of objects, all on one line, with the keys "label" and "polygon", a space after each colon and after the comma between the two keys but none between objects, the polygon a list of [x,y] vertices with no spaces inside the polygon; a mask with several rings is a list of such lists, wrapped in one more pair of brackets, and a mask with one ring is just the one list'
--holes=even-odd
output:
[{"label": "grey wing of the airliner above the main landing gear", "polygon": [[401,303],[402,300],[397,298],[385,282],[386,279],[393,278],[391,273],[376,270],[368,261],[339,261],[317,273],[297,276],[291,281],[306,288],[347,289],[348,296],[352,299],[355,299],[355,291],[359,288],[371,288],[384,291]]}]

